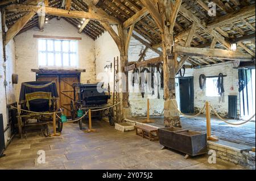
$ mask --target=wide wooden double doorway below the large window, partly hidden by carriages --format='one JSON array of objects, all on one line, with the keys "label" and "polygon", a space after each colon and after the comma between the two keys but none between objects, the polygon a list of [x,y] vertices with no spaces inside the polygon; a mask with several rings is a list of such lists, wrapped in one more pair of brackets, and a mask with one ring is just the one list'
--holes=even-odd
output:
[{"label": "wide wooden double doorway below the large window, partly hidden by carriages", "polygon": [[73,83],[80,83],[80,73],[77,74],[36,74],[36,81],[53,81],[56,83],[60,100],[57,107],[64,110],[64,115],[71,116],[71,100],[75,99]]}]

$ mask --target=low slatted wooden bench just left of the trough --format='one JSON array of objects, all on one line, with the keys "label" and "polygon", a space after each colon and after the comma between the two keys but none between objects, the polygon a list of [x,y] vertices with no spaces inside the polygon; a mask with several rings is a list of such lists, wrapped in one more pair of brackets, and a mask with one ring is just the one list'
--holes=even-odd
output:
[{"label": "low slatted wooden bench just left of the trough", "polygon": [[[148,138],[150,141],[158,140],[158,128],[148,127],[146,125],[135,125],[134,128],[136,129],[136,135]],[[155,133],[155,135],[153,133]]]}]

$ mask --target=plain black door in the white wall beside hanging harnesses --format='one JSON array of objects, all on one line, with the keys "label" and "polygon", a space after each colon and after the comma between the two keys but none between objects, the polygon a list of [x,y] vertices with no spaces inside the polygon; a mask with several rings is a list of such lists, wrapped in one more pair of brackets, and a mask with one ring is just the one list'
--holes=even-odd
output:
[{"label": "plain black door in the white wall beside hanging harnesses", "polygon": [[194,112],[194,87],[193,77],[179,79],[180,85],[180,111],[184,113]]}]

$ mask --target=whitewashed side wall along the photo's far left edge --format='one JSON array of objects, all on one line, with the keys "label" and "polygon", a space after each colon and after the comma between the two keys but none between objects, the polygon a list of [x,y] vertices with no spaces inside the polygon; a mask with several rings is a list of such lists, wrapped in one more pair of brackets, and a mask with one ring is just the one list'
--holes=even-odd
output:
[{"label": "whitewashed side wall along the photo's far left edge", "polygon": [[[0,27],[2,27],[1,22],[1,12],[0,12]],[[11,104],[16,101],[15,90],[16,85],[13,85],[11,75],[16,72],[15,65],[15,43],[11,40],[6,46],[6,91],[5,91],[5,68],[3,65],[3,44],[2,44],[2,28],[0,28],[0,113],[3,114],[3,126],[4,129],[7,127],[7,109],[6,104]],[[5,144],[7,139],[10,137],[10,129],[5,132]]]}]

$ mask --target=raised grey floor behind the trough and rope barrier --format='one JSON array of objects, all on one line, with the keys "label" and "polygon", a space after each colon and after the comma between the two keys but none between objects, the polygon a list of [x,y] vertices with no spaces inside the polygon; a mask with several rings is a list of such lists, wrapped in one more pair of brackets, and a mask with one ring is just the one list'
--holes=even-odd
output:
[{"label": "raised grey floor behind the trough and rope barrier", "polygon": [[[146,118],[129,118],[130,120],[141,121]],[[151,117],[155,120],[155,123],[150,123],[156,127],[164,127],[163,117]],[[240,123],[238,120],[228,120],[232,123]],[[181,117],[181,126],[185,129],[190,129],[192,131],[200,131],[206,133],[206,120],[205,115],[200,115],[199,117],[188,119]],[[212,116],[211,119],[212,135],[217,136],[220,140],[234,142],[236,144],[255,146],[255,121],[249,122],[240,126],[234,126],[224,123],[217,119],[217,117]]]}]

